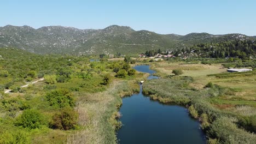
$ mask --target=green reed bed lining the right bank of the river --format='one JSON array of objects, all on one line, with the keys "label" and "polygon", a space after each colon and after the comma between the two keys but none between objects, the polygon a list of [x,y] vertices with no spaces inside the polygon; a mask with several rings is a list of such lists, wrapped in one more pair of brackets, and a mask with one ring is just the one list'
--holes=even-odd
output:
[{"label": "green reed bed lining the right bank of the river", "polygon": [[[191,77],[171,77],[150,80],[143,85],[143,93],[162,103],[188,106],[191,116],[199,118],[210,143],[254,143],[255,117],[220,111],[212,106],[212,98],[234,93],[233,89],[208,83],[200,91],[190,87]],[[243,129],[241,129],[241,127]],[[247,131],[246,131],[246,130]]]}]

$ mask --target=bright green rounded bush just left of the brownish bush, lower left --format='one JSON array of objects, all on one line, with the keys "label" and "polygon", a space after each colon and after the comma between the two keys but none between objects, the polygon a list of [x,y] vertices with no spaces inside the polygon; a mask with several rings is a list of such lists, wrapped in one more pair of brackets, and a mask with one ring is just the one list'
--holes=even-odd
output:
[{"label": "bright green rounded bush just left of the brownish bush, lower left", "polygon": [[28,129],[41,128],[45,124],[43,115],[37,110],[25,110],[18,118],[15,125],[22,126]]}]

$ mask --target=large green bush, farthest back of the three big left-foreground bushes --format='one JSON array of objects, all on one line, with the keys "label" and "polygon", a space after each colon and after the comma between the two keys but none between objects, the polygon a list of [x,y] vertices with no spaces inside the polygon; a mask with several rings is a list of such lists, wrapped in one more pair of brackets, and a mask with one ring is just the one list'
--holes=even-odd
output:
[{"label": "large green bush, farthest back of the three big left-foreground bushes", "polygon": [[73,95],[67,89],[54,89],[50,93],[46,94],[46,99],[49,101],[51,106],[74,106]]}]

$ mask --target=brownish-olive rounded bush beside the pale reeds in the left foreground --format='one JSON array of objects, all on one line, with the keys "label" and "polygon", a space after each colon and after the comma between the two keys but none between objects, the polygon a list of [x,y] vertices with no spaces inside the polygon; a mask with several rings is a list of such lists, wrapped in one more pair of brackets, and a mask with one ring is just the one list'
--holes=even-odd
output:
[{"label": "brownish-olive rounded bush beside the pale reeds in the left foreground", "polygon": [[54,129],[74,129],[78,122],[78,113],[71,107],[63,108],[59,113],[53,116],[51,127]]}]

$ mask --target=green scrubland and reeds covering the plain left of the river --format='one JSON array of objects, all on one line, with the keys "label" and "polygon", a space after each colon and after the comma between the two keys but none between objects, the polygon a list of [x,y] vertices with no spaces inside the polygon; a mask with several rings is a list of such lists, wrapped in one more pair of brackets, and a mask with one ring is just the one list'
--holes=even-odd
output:
[{"label": "green scrubland and reeds covering the plain left of the river", "polygon": [[[113,143],[121,96],[138,91],[134,81],[143,76],[130,60],[90,62],[18,49],[0,49],[0,55],[0,143],[79,143],[78,131],[88,130],[85,143]],[[96,121],[101,126],[92,127]]]}]

